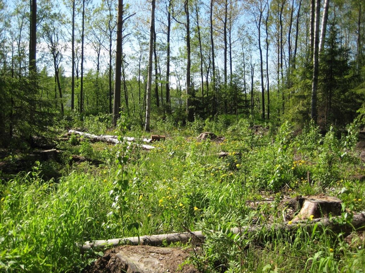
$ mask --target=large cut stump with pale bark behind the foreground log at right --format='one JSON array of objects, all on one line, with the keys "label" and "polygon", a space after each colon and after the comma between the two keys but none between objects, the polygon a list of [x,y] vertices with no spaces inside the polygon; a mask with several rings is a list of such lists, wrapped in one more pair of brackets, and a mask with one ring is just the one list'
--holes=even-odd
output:
[{"label": "large cut stump with pale bark behind the foreground log at right", "polygon": [[[304,197],[299,213],[292,221],[341,215],[341,200],[332,196]],[[313,215],[313,216],[311,216]]]}]

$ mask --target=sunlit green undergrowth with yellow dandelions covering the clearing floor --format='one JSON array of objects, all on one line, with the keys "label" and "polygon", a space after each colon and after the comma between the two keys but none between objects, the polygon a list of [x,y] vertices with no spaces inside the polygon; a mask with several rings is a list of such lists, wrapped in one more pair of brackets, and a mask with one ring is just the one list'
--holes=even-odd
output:
[{"label": "sunlit green undergrowth with yellow dandelions covering the clearing floor", "polygon": [[[73,116],[59,126],[145,135],[123,119],[111,131],[109,125],[107,116]],[[49,163],[37,162],[29,173],[1,182],[0,270],[78,272],[103,254],[81,254],[85,241],[203,230],[207,240],[188,261],[201,271],[364,272],[364,241],[357,236],[349,243],[322,227],[309,233],[299,228],[295,236],[270,229],[231,233],[231,227],[250,224],[285,225],[278,209],[284,195],[337,196],[344,221],[365,210],[365,186],[356,179],[364,175],[354,149],[356,123],[342,136],[335,128],[322,135],[312,123],[296,134],[288,122],[254,125],[219,118],[182,127],[167,118],[153,131],[166,141],[153,143],[149,152],[75,136],[58,143],[60,178],[45,179]],[[197,140],[202,131],[224,138]],[[228,156],[217,157],[220,151]],[[103,163],[70,165],[74,154]],[[267,197],[273,205],[253,209],[246,202]]]}]

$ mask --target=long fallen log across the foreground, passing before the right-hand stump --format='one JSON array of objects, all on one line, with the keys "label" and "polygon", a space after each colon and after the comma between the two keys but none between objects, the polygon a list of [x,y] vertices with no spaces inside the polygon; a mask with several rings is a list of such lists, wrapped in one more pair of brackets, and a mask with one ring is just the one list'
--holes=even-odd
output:
[{"label": "long fallen log across the foreground, passing before the right-hand stump", "polygon": [[[354,229],[361,230],[365,229],[365,211],[361,213],[354,214],[352,223],[341,224],[338,220],[339,217],[333,218],[318,218],[312,219],[312,221],[291,221],[285,223],[272,223],[268,225],[251,225],[244,226],[241,228],[234,227],[231,229],[231,233],[234,234],[256,234],[258,239],[263,240],[264,237],[262,234],[263,230],[270,230],[270,234],[277,234],[280,232],[292,232],[296,233],[298,229],[305,229],[308,232],[313,229],[315,225],[319,227],[323,227],[326,229],[330,229],[333,232],[342,232],[342,233],[350,233]],[[290,224],[289,224],[290,223]],[[102,249],[105,246],[118,246],[118,245],[151,245],[151,246],[161,246],[165,243],[171,244],[176,242],[186,243],[191,239],[195,239],[198,241],[205,240],[205,233],[214,232],[213,230],[206,231],[195,231],[195,232],[185,232],[185,233],[170,233],[170,234],[157,234],[157,235],[146,235],[140,237],[127,237],[127,238],[118,238],[118,239],[110,239],[110,240],[96,240],[92,242],[85,242],[83,245],[80,245],[81,251],[85,251],[91,248]],[[262,237],[262,238],[260,238]]]}]

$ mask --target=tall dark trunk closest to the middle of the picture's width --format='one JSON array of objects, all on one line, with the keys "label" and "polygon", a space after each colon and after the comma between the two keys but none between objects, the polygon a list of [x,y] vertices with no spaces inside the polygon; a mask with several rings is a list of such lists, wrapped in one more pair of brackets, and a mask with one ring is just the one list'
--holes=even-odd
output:
[{"label": "tall dark trunk closest to the middle of the picture's width", "polygon": [[191,67],[191,58],[190,58],[190,18],[189,18],[189,0],[185,0],[184,9],[186,14],[186,48],[187,48],[187,69],[186,69],[186,109],[188,114],[188,121],[194,121],[194,110],[191,105],[191,92],[190,92],[190,67]]}]

